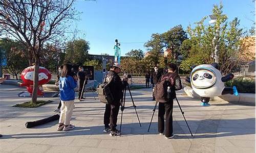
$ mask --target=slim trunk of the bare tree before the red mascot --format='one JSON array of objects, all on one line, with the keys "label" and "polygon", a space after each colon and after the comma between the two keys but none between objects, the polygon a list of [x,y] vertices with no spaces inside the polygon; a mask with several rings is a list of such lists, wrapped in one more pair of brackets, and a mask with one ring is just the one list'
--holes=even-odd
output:
[{"label": "slim trunk of the bare tree before the red mascot", "polygon": [[36,58],[35,59],[35,65],[34,65],[34,85],[33,85],[33,92],[32,92],[31,103],[36,103],[36,100],[37,100],[38,71],[39,71],[39,59]]}]

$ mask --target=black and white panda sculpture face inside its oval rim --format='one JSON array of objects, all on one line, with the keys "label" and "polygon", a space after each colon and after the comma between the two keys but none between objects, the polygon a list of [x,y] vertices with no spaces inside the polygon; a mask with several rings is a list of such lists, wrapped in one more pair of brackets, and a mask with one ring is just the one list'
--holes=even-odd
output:
[{"label": "black and white panda sculpture face inside its oval rim", "polygon": [[191,84],[198,89],[205,89],[214,86],[216,74],[211,69],[199,68],[191,73]]}]

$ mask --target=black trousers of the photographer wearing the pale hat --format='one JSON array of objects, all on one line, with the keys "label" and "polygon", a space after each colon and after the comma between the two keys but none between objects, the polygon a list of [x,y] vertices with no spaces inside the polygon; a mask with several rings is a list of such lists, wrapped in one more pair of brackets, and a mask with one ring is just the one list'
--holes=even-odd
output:
[{"label": "black trousers of the photographer wearing the pale hat", "polygon": [[110,126],[111,130],[116,130],[118,112],[119,106],[106,104],[103,121],[105,127]]}]

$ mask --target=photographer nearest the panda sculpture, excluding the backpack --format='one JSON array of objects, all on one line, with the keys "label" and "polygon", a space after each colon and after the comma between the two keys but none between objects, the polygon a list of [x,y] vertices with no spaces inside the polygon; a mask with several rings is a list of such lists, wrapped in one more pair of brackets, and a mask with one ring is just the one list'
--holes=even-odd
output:
[{"label": "photographer nearest the panda sculpture, excluding the backpack", "polygon": [[[176,98],[177,90],[182,89],[181,80],[176,72],[177,66],[173,63],[168,64],[168,72],[163,74],[161,80],[166,80],[170,78],[168,81],[172,86],[170,86],[170,98],[168,98],[165,103],[159,103],[158,107],[158,132],[160,135],[163,135],[165,129],[165,138],[171,139],[174,137],[173,134],[173,99]],[[166,116],[165,126],[164,126],[164,114]]]}]

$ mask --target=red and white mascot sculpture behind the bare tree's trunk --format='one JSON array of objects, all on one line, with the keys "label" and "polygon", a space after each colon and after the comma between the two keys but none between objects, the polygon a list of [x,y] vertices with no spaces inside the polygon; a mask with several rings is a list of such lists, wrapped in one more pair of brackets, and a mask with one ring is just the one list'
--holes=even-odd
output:
[{"label": "red and white mascot sculpture behind the bare tree's trunk", "polygon": [[[27,87],[30,95],[33,92],[33,81],[34,81],[34,66],[29,66],[22,71],[21,78],[23,83],[20,84],[22,87]],[[37,95],[42,96],[44,92],[42,90],[42,85],[47,84],[52,78],[52,74],[45,67],[39,67],[38,71],[38,90]]]}]

